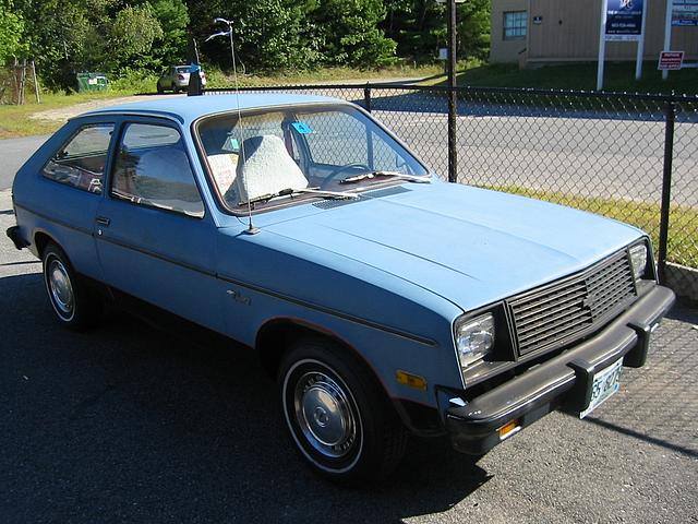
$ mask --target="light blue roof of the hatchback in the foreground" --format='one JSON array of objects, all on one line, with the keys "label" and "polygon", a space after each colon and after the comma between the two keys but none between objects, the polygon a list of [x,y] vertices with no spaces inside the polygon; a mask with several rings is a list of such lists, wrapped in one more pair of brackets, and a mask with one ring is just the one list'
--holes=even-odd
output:
[{"label": "light blue roof of the hatchback in the foreground", "polygon": [[[238,95],[164,96],[153,100],[134,102],[119,106],[104,107],[81,115],[161,115],[189,123],[206,115],[234,111],[240,109],[262,109],[267,107],[301,104],[344,104],[344,100],[316,95],[297,95],[285,93],[240,93]],[[80,117],[79,117],[80,118]]]}]

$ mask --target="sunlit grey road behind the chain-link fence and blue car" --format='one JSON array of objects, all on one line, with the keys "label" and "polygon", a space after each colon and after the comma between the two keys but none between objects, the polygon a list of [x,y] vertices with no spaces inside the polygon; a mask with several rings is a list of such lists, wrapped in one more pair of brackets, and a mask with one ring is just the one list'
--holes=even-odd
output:
[{"label": "sunlit grey road behind the chain-link fence and blue car", "polygon": [[[327,88],[320,93],[354,99],[359,92],[362,90]],[[396,95],[377,97],[373,106],[380,120],[446,177],[447,123],[441,104],[422,95]],[[458,176],[462,182],[661,202],[665,126],[657,118],[590,118],[590,114],[562,118],[540,111],[517,114],[512,108],[512,115],[503,115],[503,110],[464,106],[457,119]],[[61,109],[53,117],[65,118],[75,112],[80,110]],[[698,119],[698,112],[695,117]],[[675,128],[672,202],[696,207],[698,126],[679,121]],[[9,187],[16,168],[44,140],[0,141],[0,157],[9,160],[0,172],[0,189]]]}]

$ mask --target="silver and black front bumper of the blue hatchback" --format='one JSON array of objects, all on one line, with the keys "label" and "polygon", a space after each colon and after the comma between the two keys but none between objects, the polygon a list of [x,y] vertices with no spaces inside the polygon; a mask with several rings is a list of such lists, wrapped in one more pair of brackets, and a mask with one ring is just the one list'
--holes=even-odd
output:
[{"label": "silver and black front bumper of the blue hatchback", "polygon": [[500,428],[516,421],[516,431],[557,407],[575,412],[589,404],[593,374],[623,358],[639,368],[647,360],[651,332],[674,303],[674,293],[655,286],[600,333],[464,405],[445,407],[446,430],[454,448],[482,454],[504,438]]}]

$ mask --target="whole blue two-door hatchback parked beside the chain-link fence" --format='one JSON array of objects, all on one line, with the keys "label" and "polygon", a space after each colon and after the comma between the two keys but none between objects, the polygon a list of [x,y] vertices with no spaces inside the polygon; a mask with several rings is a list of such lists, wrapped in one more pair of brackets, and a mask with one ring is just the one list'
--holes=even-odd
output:
[{"label": "whole blue two-door hatchback parked beside the chain-link fence", "polygon": [[642,231],[443,182],[349,103],[239,104],[99,109],[20,169],[8,235],[61,324],[135,297],[254,348],[292,445],[342,483],[387,474],[408,433],[482,454],[583,417],[645,364],[674,295]]}]

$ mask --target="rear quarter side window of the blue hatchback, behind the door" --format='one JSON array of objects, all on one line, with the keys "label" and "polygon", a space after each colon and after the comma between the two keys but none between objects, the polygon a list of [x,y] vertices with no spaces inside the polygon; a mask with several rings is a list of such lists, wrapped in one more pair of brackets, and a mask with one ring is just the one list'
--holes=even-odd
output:
[{"label": "rear quarter side window of the blue hatchback, behind the door", "polygon": [[41,174],[51,180],[101,194],[112,123],[82,127],[46,163]]}]

